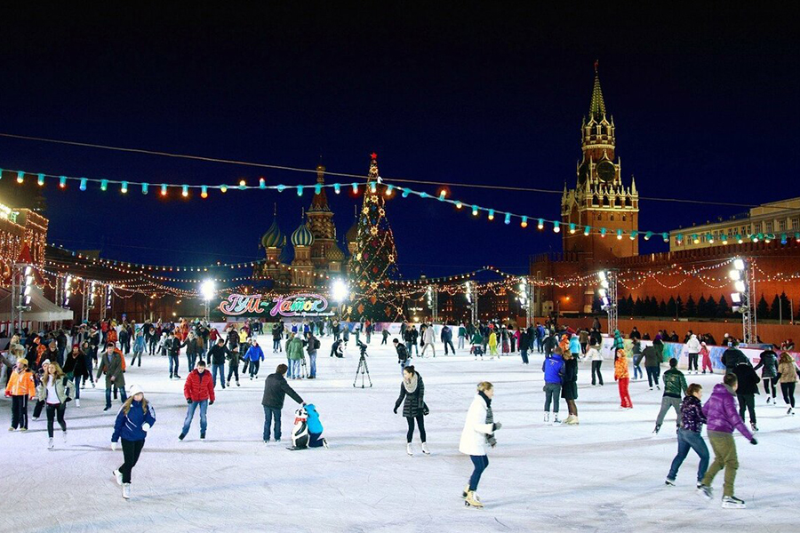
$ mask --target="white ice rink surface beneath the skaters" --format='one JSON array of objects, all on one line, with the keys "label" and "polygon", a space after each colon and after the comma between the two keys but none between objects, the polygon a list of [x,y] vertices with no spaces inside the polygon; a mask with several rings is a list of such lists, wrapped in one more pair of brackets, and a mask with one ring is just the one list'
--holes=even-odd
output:
[{"label": "white ice rink surface beneath the skaters", "polygon": [[[270,339],[263,340],[267,361],[260,379],[243,377],[242,386],[224,391],[217,387],[206,442],[199,440],[199,412],[186,441],[178,441],[187,408],[184,380],[168,379],[165,357],[146,356],[140,368],[127,371],[126,382],[144,387],[157,418],[133,470],[130,501],[111,475],[122,463],[122,452],[109,449],[119,403],[104,413],[100,386],[82,391],[80,409],[69,405],[68,442],[61,442],[57,428],[52,451],[42,419],[31,421],[27,434],[0,432],[0,531],[800,530],[800,417],[766,406],[763,395],[756,397],[759,444],[737,437],[736,493],[748,508],[727,510],[719,502],[723,473],[715,480],[713,501],[695,494],[693,452],[677,486],[664,485],[676,452],[674,414],[659,435],[651,433],[661,393],[650,392],[646,380],[631,383],[634,409],[619,410],[608,360],[603,387],[590,386],[588,363],[581,363],[580,426],[547,426],[540,355],[528,366],[518,354],[474,361],[466,353],[444,357],[437,349],[436,359],[415,358],[431,410],[426,429],[432,455],[421,454],[415,435],[417,453],[408,457],[405,420],[392,413],[400,387],[394,349],[372,338],[373,386],[354,389],[353,343],[346,358],[332,359],[331,338],[323,338],[317,379],[290,384],[316,404],[331,448],[290,451],[285,446],[297,405],[289,398],[284,442],[261,441],[264,378],[285,362],[284,354],[272,354]],[[182,355],[180,365],[186,378]],[[704,387],[704,400],[721,378],[687,376]],[[472,465],[458,445],[482,380],[495,386],[492,410],[503,428],[477,491],[485,508],[476,510],[460,499]],[[561,410],[565,418],[564,401]],[[11,402],[4,398],[0,423],[9,426],[10,417]]]}]

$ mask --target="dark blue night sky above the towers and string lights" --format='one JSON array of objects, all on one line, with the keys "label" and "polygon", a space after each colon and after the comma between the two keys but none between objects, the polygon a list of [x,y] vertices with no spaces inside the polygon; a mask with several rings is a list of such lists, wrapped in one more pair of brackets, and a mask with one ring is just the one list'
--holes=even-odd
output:
[{"label": "dark blue night sky above the towers and string lights", "polygon": [[[574,183],[599,59],[623,176],[636,176],[641,195],[734,203],[798,195],[792,28],[800,24],[790,12],[381,4],[247,13],[4,9],[0,131],[304,168],[322,155],[330,171],[360,174],[376,151],[387,179],[561,189]],[[0,167],[155,183],[312,179],[14,139],[0,139]],[[55,185],[45,192],[50,240],[102,246],[104,257],[132,262],[257,259],[273,203],[286,233],[310,203],[310,194],[234,191],[165,202],[152,192]],[[468,203],[559,217],[558,195],[452,192]],[[344,235],[355,201],[342,194],[331,203]],[[640,229],[658,231],[744,211],[640,205]],[[431,201],[396,198],[388,217],[407,277],[488,263],[523,272],[530,254],[560,249],[535,225],[473,220]]]}]

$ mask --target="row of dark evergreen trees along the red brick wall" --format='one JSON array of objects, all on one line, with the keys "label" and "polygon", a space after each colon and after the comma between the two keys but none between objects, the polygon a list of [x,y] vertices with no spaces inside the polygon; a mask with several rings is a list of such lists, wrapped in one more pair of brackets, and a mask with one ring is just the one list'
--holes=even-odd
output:
[{"label": "row of dark evergreen trees along the red brick wall", "polygon": [[[761,319],[779,320],[782,313],[783,320],[788,322],[792,316],[791,304],[792,302],[786,296],[785,292],[781,292],[780,296],[776,294],[775,297],[772,298],[772,304],[767,303],[767,299],[764,293],[762,293],[756,305],[756,316]],[[601,312],[600,300],[598,298],[595,298],[593,307],[595,313]],[[737,317],[740,316],[740,314],[734,314],[732,312],[731,304],[728,303],[724,295],[720,296],[718,300],[714,298],[713,295],[708,298],[700,295],[700,298],[695,301],[690,294],[689,298],[684,302],[680,296],[677,298],[669,297],[666,301],[664,298],[661,298],[659,301],[658,298],[651,298],[649,296],[644,297],[644,299],[637,297],[636,300],[634,300],[633,297],[628,294],[628,298],[620,298],[617,308],[620,316],[664,316],[681,318],[730,318],[734,315]],[[800,313],[798,313],[796,309],[794,316],[797,317],[798,314]]]}]

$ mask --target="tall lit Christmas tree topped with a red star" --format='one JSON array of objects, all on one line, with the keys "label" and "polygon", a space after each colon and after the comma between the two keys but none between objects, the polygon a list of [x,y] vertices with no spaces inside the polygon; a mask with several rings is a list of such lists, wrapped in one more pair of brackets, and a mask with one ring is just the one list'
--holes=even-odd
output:
[{"label": "tall lit Christmas tree topped with a red star", "polygon": [[390,289],[399,277],[395,236],[386,218],[387,187],[378,176],[378,155],[372,154],[370,174],[364,187],[364,203],[358,213],[356,251],[350,259],[353,290],[352,319],[394,320],[402,314],[401,297]]}]

